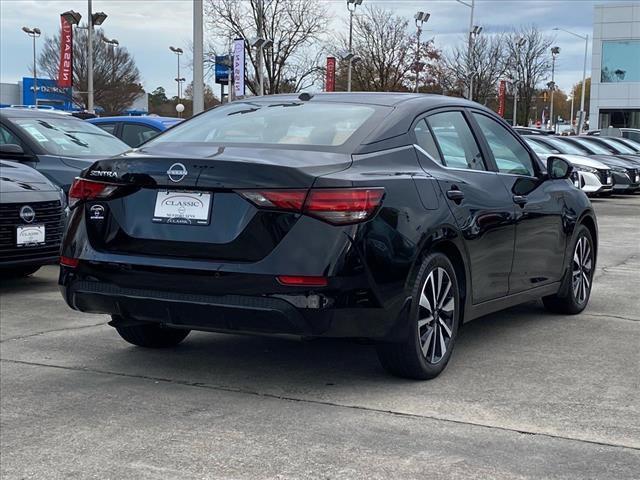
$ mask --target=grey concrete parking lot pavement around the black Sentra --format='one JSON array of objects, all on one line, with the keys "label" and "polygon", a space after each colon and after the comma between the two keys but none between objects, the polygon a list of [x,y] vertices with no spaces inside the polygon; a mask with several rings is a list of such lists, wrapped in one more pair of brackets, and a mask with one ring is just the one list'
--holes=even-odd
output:
[{"label": "grey concrete parking lot pavement around the black Sentra", "polygon": [[1,476],[637,479],[640,196],[593,203],[587,310],[476,320],[428,382],[353,341],[192,332],[144,350],[70,310],[57,267],[3,281]]}]

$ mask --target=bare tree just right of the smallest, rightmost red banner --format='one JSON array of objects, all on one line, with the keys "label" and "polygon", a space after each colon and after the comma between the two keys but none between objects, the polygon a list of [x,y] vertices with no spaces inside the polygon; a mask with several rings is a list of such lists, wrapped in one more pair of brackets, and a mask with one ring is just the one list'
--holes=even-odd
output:
[{"label": "bare tree just right of the smallest, rightmost red banner", "polygon": [[[524,40],[522,47],[518,41]],[[506,36],[509,56],[508,75],[517,83],[519,125],[527,125],[531,118],[531,106],[536,87],[551,71],[549,47],[553,39],[543,35],[535,26],[521,27]]]}]

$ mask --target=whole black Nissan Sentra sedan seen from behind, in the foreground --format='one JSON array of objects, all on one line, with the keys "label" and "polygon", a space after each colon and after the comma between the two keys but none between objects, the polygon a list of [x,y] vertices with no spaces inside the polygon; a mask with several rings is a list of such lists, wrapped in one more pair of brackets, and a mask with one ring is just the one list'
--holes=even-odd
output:
[{"label": "whole black Nissan Sentra sedan seen from behind, in the foreground", "polygon": [[367,337],[390,372],[432,378],[465,321],[585,308],[598,234],[570,174],[461,99],[241,100],[83,172],[61,290],[135,345]]}]

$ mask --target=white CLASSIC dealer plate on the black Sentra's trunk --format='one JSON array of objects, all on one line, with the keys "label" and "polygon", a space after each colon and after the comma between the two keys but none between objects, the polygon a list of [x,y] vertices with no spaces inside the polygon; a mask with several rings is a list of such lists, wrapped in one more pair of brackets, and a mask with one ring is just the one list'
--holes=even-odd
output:
[{"label": "white CLASSIC dealer plate on the black Sentra's trunk", "polygon": [[173,225],[209,225],[213,194],[190,190],[159,190],[152,221]]}]

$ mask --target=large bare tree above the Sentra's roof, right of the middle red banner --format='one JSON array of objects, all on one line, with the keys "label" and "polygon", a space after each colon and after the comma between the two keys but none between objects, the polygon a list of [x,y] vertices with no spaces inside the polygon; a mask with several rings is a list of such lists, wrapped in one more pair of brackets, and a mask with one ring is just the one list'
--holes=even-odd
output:
[{"label": "large bare tree above the Sentra's roof, right of the middle red banner", "polygon": [[[421,42],[421,64],[417,65],[416,38],[408,26],[406,18],[375,6],[366,6],[354,17],[353,51],[360,60],[353,65],[352,90],[411,91],[416,68],[423,72],[423,84],[433,77],[429,61],[437,58],[438,53],[431,41]],[[338,50],[334,53],[346,52],[348,37],[340,35],[332,44],[337,45],[337,49],[333,47]],[[336,76],[337,90],[346,90],[346,69],[346,62],[341,62]]]}]

